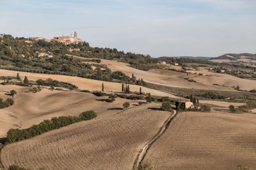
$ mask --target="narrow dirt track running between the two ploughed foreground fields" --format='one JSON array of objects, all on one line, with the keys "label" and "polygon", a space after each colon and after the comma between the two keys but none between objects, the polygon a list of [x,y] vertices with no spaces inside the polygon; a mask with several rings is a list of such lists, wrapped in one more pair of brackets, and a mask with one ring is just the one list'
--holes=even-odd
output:
[{"label": "narrow dirt track running between the two ploughed foreground fields", "polygon": [[148,141],[148,143],[146,143],[146,145],[144,145],[143,148],[141,148],[140,152],[136,157],[136,160],[134,160],[133,167],[132,167],[133,170],[136,169],[136,167],[138,167],[141,164],[150,146],[164,134],[164,132],[166,131],[166,129],[168,129],[170,123],[172,122],[173,118],[175,118],[177,114],[178,114],[178,111],[175,111],[175,113],[173,113],[170,117],[168,117],[168,119],[164,122],[163,126],[159,129],[159,131],[155,134],[155,136],[150,141]]}]

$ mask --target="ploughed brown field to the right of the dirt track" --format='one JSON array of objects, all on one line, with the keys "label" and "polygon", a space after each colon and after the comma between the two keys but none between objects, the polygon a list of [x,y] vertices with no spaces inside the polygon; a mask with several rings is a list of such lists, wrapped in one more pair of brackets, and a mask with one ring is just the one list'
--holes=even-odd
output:
[{"label": "ploughed brown field to the right of the dirt track", "polygon": [[256,167],[256,115],[179,113],[143,160],[156,169]]}]

